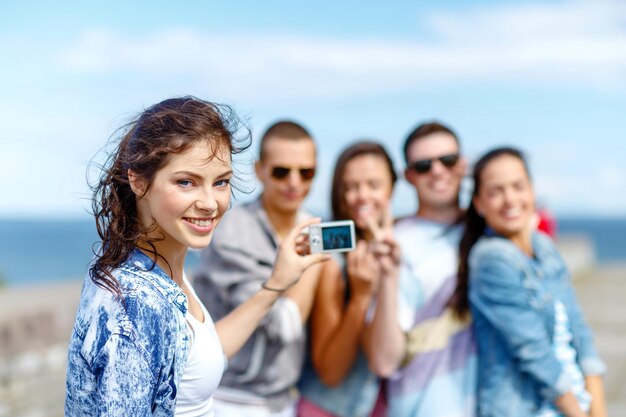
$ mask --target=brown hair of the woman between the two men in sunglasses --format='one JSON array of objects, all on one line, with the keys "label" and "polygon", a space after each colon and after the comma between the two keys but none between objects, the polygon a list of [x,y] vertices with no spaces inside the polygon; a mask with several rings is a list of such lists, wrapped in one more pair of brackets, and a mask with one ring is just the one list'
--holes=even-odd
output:
[{"label": "brown hair of the woman between the two men in sunglasses", "polygon": [[[389,178],[391,178],[391,187],[393,188],[398,176],[393,168],[393,161],[385,148],[379,143],[372,141],[356,142],[343,150],[337,163],[335,164],[335,172],[333,174],[333,185],[331,191],[331,205],[334,220],[345,220],[349,218],[348,210],[345,204],[346,186],[343,183],[343,175],[346,171],[348,162],[358,156],[373,155],[383,159],[389,170]],[[357,230],[357,235],[362,236],[362,232]]]}]

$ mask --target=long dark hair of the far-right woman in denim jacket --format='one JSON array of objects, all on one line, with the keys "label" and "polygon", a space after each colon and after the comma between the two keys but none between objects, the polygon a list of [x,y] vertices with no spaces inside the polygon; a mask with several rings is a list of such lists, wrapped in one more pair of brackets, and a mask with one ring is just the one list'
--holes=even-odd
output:
[{"label": "long dark hair of the far-right woman in denim jacket", "polygon": [[472,192],[472,200],[465,212],[462,224],[464,225],[463,236],[459,243],[459,272],[456,290],[450,301],[450,306],[459,317],[465,316],[469,311],[469,255],[472,247],[478,239],[485,233],[487,224],[485,219],[478,214],[476,207],[474,206],[474,197],[478,196],[481,187],[481,175],[483,170],[489,165],[491,161],[500,156],[508,155],[518,158],[524,165],[524,170],[530,178],[530,172],[528,171],[528,165],[524,154],[511,147],[495,148],[484,154],[478,162],[474,165],[474,171],[472,177],[474,179],[474,191]]}]

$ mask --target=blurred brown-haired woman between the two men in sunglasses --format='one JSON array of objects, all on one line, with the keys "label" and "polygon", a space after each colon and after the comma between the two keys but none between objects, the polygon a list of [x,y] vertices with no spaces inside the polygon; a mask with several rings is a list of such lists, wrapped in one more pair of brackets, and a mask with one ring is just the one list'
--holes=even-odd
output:
[{"label": "blurred brown-haired woman between the two men in sunglasses", "polygon": [[[345,258],[327,262],[318,281],[310,357],[299,384],[302,417],[385,415],[379,379],[369,370],[361,340],[379,275],[393,273],[373,249],[391,233],[389,205],[395,181],[391,158],[378,143],[349,146],[335,165],[333,218],[354,220],[359,242]],[[393,247],[393,240],[389,242]],[[389,261],[393,264],[390,258],[384,262]]]}]

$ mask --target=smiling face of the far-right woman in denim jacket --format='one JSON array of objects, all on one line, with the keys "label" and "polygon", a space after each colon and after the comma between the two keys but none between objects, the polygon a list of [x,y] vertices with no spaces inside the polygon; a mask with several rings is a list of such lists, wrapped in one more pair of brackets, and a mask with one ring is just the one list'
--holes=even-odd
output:
[{"label": "smiling face of the far-right woman in denim jacket", "polygon": [[474,206],[494,231],[509,239],[526,236],[535,213],[535,194],[524,163],[512,155],[491,160],[480,176]]}]

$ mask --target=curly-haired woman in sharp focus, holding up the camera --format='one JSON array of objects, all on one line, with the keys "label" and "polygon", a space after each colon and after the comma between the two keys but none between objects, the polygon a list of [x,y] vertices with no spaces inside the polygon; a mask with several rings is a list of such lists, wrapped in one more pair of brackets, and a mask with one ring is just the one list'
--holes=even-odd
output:
[{"label": "curly-haired woman in sharp focus, holding up the camera", "polygon": [[213,416],[212,392],[280,294],[323,255],[296,226],[263,289],[215,325],[183,272],[230,205],[238,124],[226,106],[162,101],[127,126],[94,188],[102,246],[68,354],[66,416]]}]

